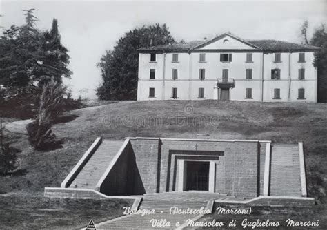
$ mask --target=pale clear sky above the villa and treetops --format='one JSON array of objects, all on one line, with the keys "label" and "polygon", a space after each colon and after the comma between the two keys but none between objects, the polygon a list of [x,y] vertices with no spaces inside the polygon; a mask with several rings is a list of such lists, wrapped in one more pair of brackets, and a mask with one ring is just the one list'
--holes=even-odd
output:
[{"label": "pale clear sky above the villa and treetops", "polygon": [[[300,43],[299,28],[309,33],[327,25],[327,0],[311,1],[10,1],[0,0],[0,25],[22,25],[21,10],[35,8],[41,30],[58,19],[61,43],[69,50],[73,74],[64,83],[75,97],[96,98],[101,83],[96,63],[125,32],[166,23],[180,41],[210,39],[231,32],[242,39],[278,39]],[[1,30],[1,29],[0,29]],[[310,36],[309,36],[310,38]]]}]

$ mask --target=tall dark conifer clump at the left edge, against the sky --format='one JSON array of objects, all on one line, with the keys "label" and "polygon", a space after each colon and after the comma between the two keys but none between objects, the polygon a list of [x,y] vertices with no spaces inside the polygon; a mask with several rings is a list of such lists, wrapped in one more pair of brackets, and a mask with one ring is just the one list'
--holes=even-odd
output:
[{"label": "tall dark conifer clump at the left edge, against the sky", "polygon": [[50,32],[36,27],[35,9],[23,10],[25,24],[12,25],[0,36],[1,83],[17,96],[39,95],[54,78],[70,77],[68,50],[61,45],[57,19]]}]

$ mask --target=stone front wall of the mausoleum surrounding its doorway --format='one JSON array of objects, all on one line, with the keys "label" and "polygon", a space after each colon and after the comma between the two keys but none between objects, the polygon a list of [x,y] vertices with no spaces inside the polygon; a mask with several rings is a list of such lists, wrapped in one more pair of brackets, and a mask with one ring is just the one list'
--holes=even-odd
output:
[{"label": "stone front wall of the mausoleum surrounding its doorway", "polygon": [[[215,192],[254,198],[261,183],[261,150],[257,141],[131,139],[137,169],[146,193],[177,190],[177,165],[170,150],[219,151]],[[221,154],[223,153],[223,154]],[[201,153],[205,154],[205,153]],[[198,156],[201,158],[201,154]]]}]

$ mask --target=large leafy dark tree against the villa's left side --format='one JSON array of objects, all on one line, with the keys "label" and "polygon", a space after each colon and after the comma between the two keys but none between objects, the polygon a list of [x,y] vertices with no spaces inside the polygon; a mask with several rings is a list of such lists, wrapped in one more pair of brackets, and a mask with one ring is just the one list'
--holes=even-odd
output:
[{"label": "large leafy dark tree against the villa's left side", "polygon": [[137,97],[137,49],[175,43],[166,24],[143,26],[127,32],[113,50],[106,50],[97,67],[103,83],[97,87],[97,96],[104,100],[130,100]]}]

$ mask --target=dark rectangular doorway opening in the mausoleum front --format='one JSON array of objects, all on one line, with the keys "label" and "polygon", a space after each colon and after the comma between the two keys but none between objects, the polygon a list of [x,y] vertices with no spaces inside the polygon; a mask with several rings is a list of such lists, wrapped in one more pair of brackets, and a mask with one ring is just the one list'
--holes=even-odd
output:
[{"label": "dark rectangular doorway opening in the mausoleum front", "polygon": [[187,161],[186,190],[209,190],[209,162]]}]

